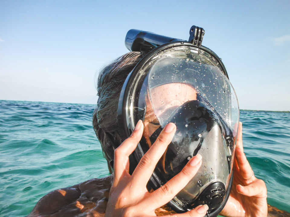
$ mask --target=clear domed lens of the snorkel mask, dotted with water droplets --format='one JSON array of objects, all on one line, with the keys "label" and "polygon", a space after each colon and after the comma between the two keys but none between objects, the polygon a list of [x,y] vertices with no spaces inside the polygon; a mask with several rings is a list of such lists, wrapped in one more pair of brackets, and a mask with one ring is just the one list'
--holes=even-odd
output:
[{"label": "clear domed lens of the snorkel mask, dotted with water droplets", "polygon": [[198,173],[175,200],[192,208],[212,183],[222,183],[220,197],[224,197],[233,168],[239,107],[218,61],[198,48],[170,48],[147,61],[133,89],[128,106],[134,117],[131,125],[139,119],[144,123],[143,139],[137,147],[140,158],[166,124],[173,122],[177,127],[151,178],[156,188],[199,153],[203,163]]}]

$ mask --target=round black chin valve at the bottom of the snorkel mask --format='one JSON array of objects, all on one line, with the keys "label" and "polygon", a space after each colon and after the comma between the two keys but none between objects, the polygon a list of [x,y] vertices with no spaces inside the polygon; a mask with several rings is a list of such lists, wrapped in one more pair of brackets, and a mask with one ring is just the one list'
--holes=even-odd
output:
[{"label": "round black chin valve at the bottom of the snorkel mask", "polygon": [[202,193],[199,197],[195,200],[194,206],[198,206],[200,204],[207,204],[208,211],[211,212],[212,210],[218,208],[224,200],[224,196],[226,194],[226,188],[222,182],[214,182]]}]

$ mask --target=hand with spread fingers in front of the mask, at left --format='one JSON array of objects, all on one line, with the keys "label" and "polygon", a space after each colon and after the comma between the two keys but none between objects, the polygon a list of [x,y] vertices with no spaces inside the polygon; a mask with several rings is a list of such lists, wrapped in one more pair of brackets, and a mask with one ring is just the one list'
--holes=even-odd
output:
[{"label": "hand with spread fingers in front of the mask, at left", "polygon": [[[159,189],[148,192],[146,184],[153,170],[166,151],[176,131],[176,126],[169,123],[163,129],[156,142],[140,160],[132,175],[129,171],[129,155],[135,150],[143,133],[143,123],[139,121],[131,134],[114,153],[114,181],[107,204],[107,217],[120,216],[156,216],[155,209],[169,202],[192,179],[201,165],[201,156],[189,160],[182,171]],[[207,205],[174,217],[203,217],[208,210]]]}]

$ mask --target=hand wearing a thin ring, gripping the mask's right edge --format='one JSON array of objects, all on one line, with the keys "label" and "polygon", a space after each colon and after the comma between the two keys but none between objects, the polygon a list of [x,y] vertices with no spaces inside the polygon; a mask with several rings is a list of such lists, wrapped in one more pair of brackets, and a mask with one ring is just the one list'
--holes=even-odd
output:
[{"label": "hand wearing a thin ring, gripping the mask's right edge", "polygon": [[239,123],[234,162],[234,180],[229,200],[220,215],[229,217],[267,216],[267,189],[257,179],[243,152],[242,123]]}]

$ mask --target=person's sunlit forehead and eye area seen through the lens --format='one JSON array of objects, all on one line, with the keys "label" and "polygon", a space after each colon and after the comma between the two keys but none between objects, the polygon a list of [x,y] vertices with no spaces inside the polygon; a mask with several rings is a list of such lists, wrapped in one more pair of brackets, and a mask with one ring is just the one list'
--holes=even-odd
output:
[{"label": "person's sunlit forehead and eye area seen through the lens", "polygon": [[160,127],[161,118],[168,118],[176,108],[196,99],[195,88],[187,83],[168,83],[147,92],[144,125],[149,137]]}]

